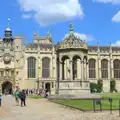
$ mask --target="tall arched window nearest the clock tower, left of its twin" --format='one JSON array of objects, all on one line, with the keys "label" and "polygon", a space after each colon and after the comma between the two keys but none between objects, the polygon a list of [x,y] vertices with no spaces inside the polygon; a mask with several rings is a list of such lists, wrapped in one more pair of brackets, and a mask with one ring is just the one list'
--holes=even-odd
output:
[{"label": "tall arched window nearest the clock tower, left of its twin", "polygon": [[34,57],[28,58],[28,78],[36,77],[36,59]]}]

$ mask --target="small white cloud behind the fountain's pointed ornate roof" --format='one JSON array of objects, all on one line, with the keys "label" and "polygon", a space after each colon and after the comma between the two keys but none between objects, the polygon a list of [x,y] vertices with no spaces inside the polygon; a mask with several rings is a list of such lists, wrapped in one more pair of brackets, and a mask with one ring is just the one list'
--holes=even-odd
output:
[{"label": "small white cloud behind the fountain's pointed ornate roof", "polygon": [[[68,36],[69,34],[66,34],[65,35],[65,38]],[[74,32],[74,35],[79,37],[81,40],[85,40],[86,42],[89,42],[89,41],[93,41],[95,40],[95,38],[92,36],[92,35],[87,35],[87,34],[81,34],[81,33],[77,33],[77,32]]]}]

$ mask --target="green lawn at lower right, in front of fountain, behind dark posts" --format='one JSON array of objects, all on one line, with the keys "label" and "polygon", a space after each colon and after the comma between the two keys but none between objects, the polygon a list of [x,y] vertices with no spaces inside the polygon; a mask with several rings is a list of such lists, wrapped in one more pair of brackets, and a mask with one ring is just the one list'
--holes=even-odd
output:
[{"label": "green lawn at lower right, in front of fountain, behind dark posts", "polygon": [[[107,93],[103,94],[104,100],[101,101],[102,109],[109,110],[110,109],[110,102],[108,98],[112,98],[112,108],[118,109],[119,108],[119,100],[120,100],[120,93]],[[92,111],[93,109],[93,100],[53,100],[55,103],[59,103],[65,106],[73,107],[76,109],[80,109],[83,111]],[[96,105],[96,110],[99,110],[100,106]]]}]

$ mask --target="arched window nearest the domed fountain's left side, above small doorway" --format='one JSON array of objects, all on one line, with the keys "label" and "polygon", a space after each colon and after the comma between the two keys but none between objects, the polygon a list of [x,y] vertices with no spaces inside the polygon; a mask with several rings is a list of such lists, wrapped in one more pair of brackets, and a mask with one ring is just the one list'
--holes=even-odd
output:
[{"label": "arched window nearest the domed fountain's left side, above small doorway", "polygon": [[47,57],[42,59],[42,77],[43,78],[50,77],[50,59]]}]

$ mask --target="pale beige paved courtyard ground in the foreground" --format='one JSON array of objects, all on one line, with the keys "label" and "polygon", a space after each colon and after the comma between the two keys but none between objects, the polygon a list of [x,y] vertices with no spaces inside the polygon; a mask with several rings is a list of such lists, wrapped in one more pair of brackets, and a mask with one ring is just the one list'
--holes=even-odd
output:
[{"label": "pale beige paved courtyard ground in the foreground", "polygon": [[46,99],[27,99],[27,106],[15,105],[12,96],[3,96],[0,120],[120,120],[118,111],[82,112],[49,102]]}]

